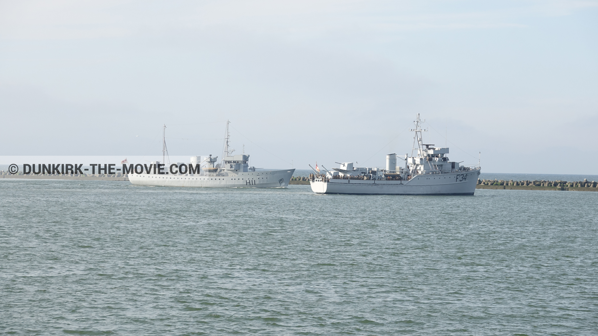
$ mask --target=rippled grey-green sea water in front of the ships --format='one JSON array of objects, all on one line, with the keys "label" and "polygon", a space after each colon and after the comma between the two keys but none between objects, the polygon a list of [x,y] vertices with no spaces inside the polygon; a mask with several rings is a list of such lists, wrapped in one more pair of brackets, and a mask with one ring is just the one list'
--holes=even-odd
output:
[{"label": "rippled grey-green sea water in front of the ships", "polygon": [[596,335],[598,192],[0,180],[0,332]]}]

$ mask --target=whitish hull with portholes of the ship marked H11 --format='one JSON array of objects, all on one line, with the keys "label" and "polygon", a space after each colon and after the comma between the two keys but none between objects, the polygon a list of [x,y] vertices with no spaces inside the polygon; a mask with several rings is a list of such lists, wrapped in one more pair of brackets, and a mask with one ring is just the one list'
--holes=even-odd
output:
[{"label": "whitish hull with portholes of the ship marked H11", "polygon": [[[212,187],[212,188],[279,188],[289,185],[295,169],[239,172],[238,174],[130,174],[135,186]],[[224,175],[224,176],[223,176]]]}]

